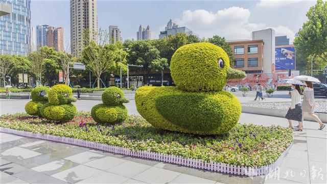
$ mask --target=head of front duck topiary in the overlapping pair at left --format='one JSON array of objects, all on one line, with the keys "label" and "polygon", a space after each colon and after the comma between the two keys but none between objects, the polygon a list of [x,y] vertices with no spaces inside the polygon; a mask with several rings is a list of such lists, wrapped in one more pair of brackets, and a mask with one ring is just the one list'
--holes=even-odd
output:
[{"label": "head of front duck topiary in the overlapping pair at left", "polygon": [[77,101],[73,96],[72,88],[64,84],[54,85],[49,90],[48,99],[49,103],[53,105],[70,104]]}]

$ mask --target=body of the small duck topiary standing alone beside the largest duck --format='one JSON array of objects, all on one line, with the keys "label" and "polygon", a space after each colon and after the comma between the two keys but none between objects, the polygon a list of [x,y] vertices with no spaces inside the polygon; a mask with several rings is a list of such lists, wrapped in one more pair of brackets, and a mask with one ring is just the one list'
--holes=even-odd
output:
[{"label": "body of the small duck topiary standing alone beside the largest duck", "polygon": [[98,104],[91,109],[91,116],[98,123],[122,123],[127,117],[127,108],[124,105],[108,106]]}]

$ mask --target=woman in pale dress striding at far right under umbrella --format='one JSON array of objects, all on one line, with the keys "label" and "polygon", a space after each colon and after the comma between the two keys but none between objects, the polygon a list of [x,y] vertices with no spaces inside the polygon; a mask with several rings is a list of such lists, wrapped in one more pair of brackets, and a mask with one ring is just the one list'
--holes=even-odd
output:
[{"label": "woman in pale dress striding at far right under umbrella", "polygon": [[[302,122],[304,120],[305,113],[307,112],[309,116],[311,116],[316,122],[319,123],[319,130],[322,130],[325,125],[321,122],[321,120],[314,114],[314,91],[313,85],[311,81],[305,81],[306,86],[303,90],[303,101],[302,101]],[[299,125],[298,125],[299,126]],[[298,127],[296,126],[296,127]]]}]

